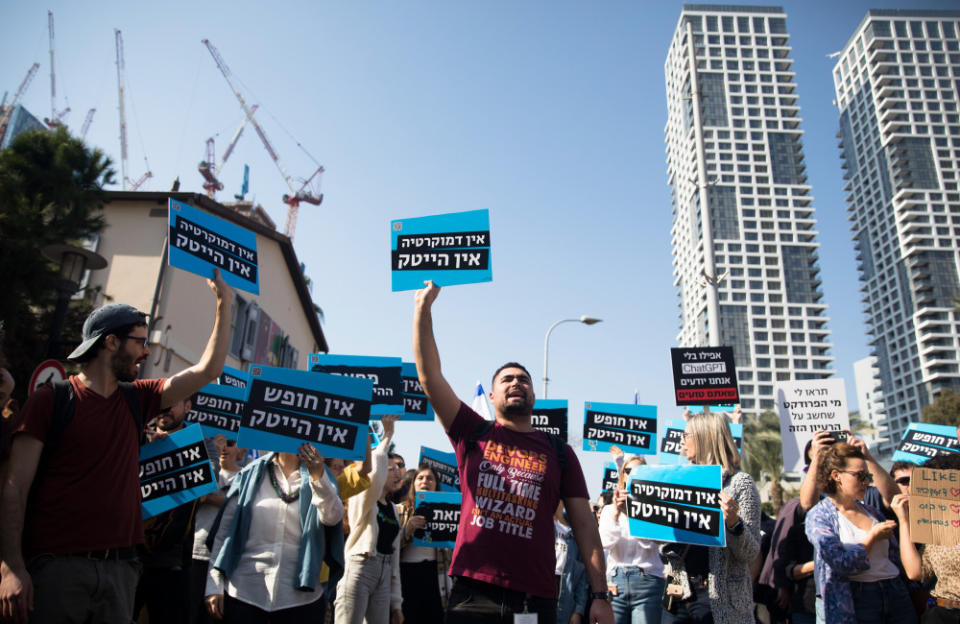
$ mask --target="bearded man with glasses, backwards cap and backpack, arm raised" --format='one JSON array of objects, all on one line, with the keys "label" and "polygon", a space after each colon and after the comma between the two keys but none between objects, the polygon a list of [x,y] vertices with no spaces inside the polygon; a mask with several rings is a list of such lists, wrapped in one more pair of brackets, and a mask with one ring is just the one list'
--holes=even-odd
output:
[{"label": "bearded man with glasses, backwards cap and backpack, arm raised", "polygon": [[80,374],[69,379],[72,417],[54,416],[51,387],[37,390],[23,406],[0,498],[4,618],[131,620],[140,573],[137,546],[143,543],[142,431],[134,407],[139,403],[140,422],[149,421],[223,369],[233,291],[218,271],[207,283],[217,311],[195,365],[169,379],[137,379],[150,355],[146,317],[114,303],[90,314],[83,342],[69,356],[82,363]]}]

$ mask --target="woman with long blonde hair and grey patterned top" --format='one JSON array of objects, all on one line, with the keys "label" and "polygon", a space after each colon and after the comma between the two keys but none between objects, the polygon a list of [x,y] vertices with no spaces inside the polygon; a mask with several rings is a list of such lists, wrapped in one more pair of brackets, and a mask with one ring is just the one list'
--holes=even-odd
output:
[{"label": "woman with long blonde hair and grey patterned top", "polygon": [[760,552],[760,494],[740,470],[740,454],[727,417],[692,414],[683,433],[691,464],[720,465],[720,508],[726,525],[723,548],[665,544],[663,624],[754,624],[750,564]]}]

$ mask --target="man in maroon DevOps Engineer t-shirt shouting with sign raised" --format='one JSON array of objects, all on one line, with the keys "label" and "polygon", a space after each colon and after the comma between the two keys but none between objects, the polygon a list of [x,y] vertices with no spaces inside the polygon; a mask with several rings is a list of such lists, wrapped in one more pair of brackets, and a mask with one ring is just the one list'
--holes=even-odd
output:
[{"label": "man in maroon DevOps Engineer t-shirt shouting with sign raised", "polygon": [[562,445],[561,462],[550,437],[533,428],[533,382],[519,364],[494,373],[492,426],[457,398],[440,371],[433,336],[431,308],[439,293],[433,282],[417,291],[413,352],[420,383],[456,451],[463,494],[447,624],[513,624],[524,612],[541,624],[556,622],[553,514],[559,499],[587,568],[594,598],[588,622],[612,624],[600,534],[576,454]]}]

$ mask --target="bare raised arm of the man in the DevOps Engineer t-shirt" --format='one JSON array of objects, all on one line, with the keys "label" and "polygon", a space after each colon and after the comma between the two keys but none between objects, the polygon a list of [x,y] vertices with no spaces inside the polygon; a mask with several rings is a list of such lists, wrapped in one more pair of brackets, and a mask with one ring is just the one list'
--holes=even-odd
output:
[{"label": "bare raised arm of the man in the DevOps Engineer t-shirt", "polygon": [[417,291],[413,309],[413,359],[417,363],[417,375],[427,400],[444,430],[449,430],[460,410],[460,399],[443,378],[440,353],[433,337],[431,308],[439,294],[440,287],[432,281],[427,281],[426,287]]}]

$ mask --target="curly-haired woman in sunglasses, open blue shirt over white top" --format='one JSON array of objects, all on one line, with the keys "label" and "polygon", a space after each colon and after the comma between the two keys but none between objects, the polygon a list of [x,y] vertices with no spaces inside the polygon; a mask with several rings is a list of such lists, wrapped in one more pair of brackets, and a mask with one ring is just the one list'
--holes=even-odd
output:
[{"label": "curly-haired woman in sunglasses, open blue shirt over white top", "polygon": [[896,523],[859,502],[871,479],[858,447],[838,442],[820,452],[817,486],[826,496],[807,512],[805,527],[822,597],[817,608],[831,624],[912,624],[917,614],[900,578]]}]

